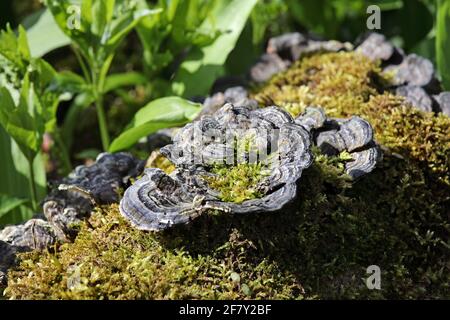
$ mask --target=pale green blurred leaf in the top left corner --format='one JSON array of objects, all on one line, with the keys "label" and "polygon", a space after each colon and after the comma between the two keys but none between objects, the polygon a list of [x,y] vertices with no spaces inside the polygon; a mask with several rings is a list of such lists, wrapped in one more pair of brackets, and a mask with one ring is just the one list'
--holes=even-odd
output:
[{"label": "pale green blurred leaf in the top left corner", "polygon": [[24,21],[24,25],[28,25],[28,44],[33,57],[42,57],[70,44],[70,38],[61,31],[48,9],[34,13]]}]

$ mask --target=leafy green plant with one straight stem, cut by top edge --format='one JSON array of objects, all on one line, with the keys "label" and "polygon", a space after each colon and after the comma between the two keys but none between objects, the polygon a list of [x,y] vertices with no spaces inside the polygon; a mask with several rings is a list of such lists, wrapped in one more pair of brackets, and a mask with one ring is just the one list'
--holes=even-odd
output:
[{"label": "leafy green plant with one straight stem, cut by top edge", "polygon": [[132,1],[83,0],[81,7],[73,7],[69,0],[47,0],[45,3],[58,26],[72,41],[87,91],[97,109],[103,149],[108,150],[110,138],[104,94],[111,63],[125,36],[145,16],[160,10],[139,10]]}]

